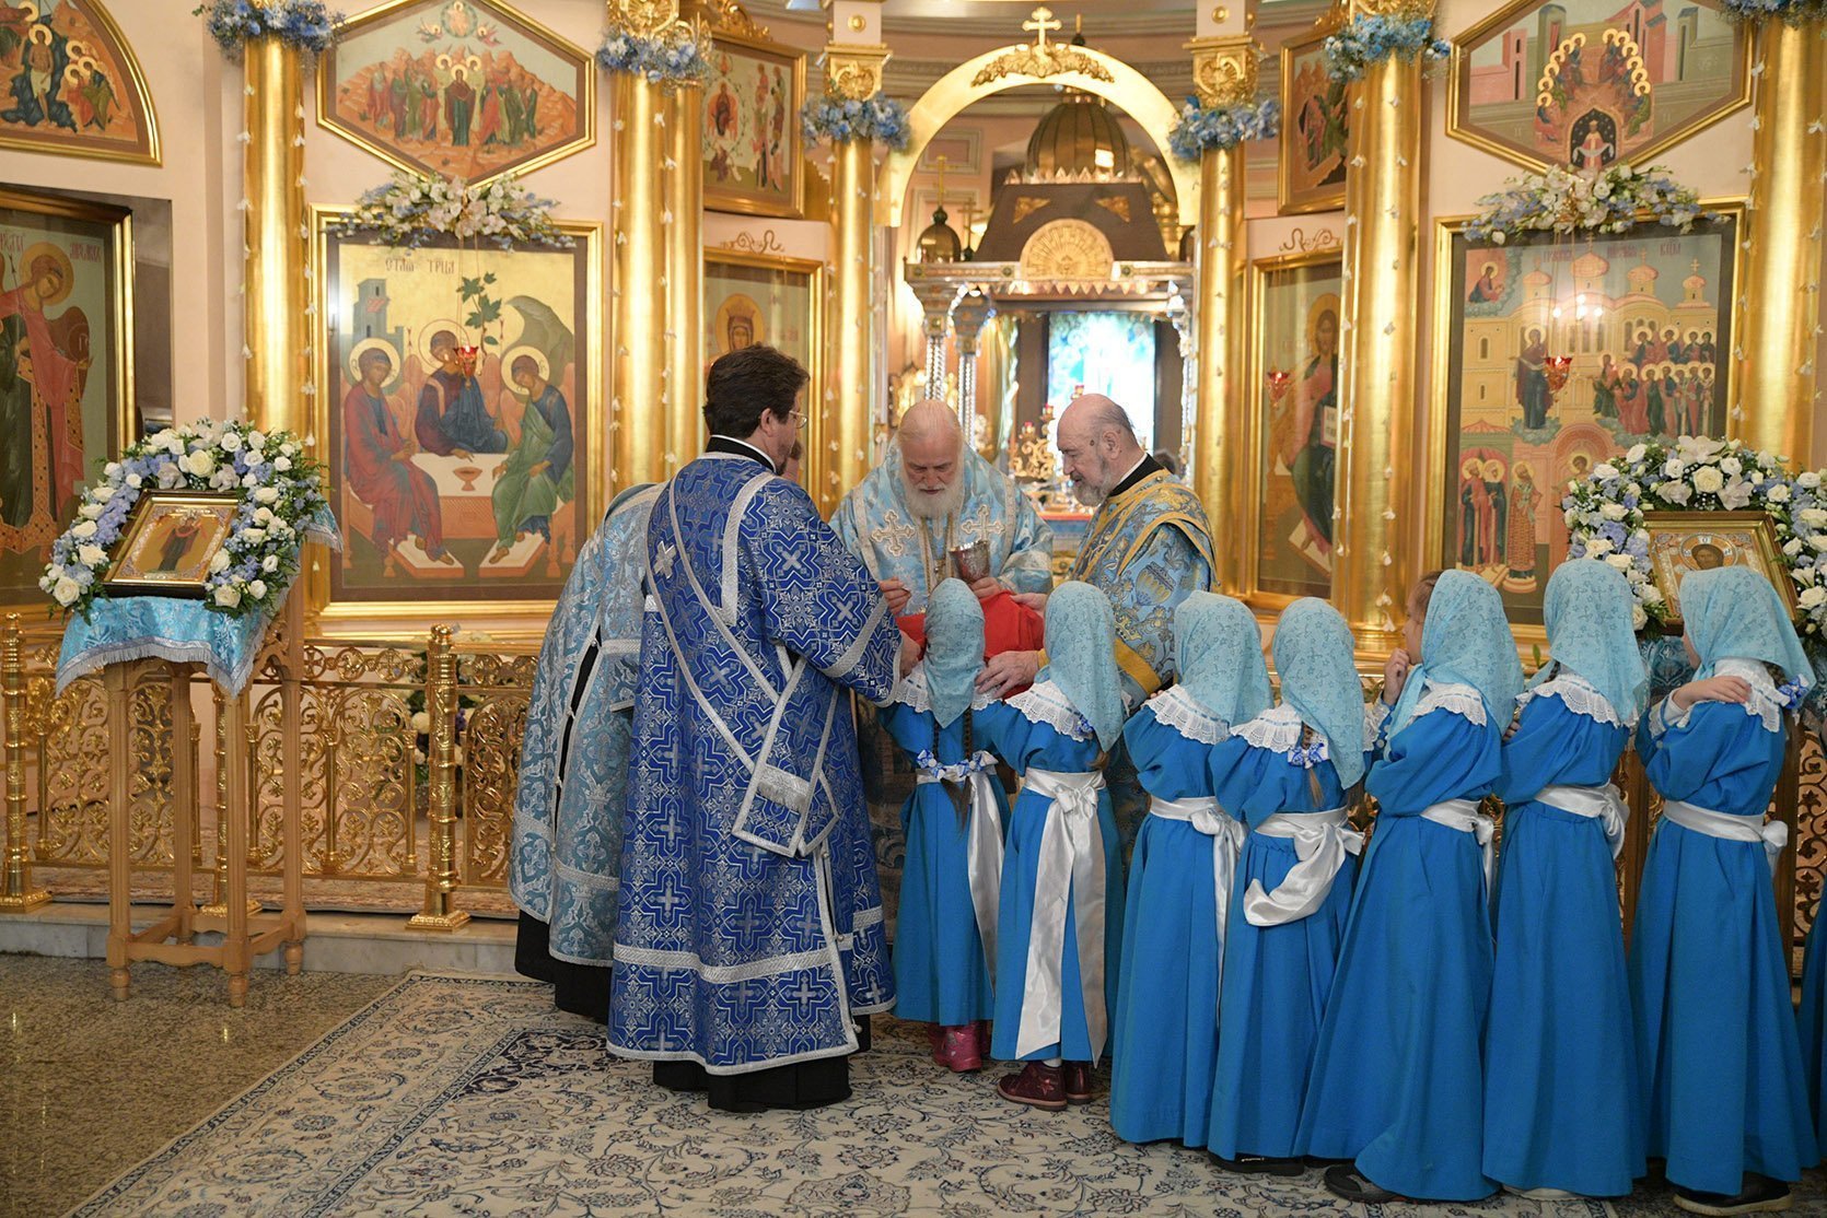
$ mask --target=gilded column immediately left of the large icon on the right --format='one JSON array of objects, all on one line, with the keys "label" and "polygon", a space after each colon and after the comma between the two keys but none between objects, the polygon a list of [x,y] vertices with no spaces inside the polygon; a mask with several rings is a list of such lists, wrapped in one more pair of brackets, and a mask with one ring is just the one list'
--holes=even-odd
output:
[{"label": "gilded column immediately left of the large icon on the right", "polygon": [[[1352,18],[1431,18],[1431,0],[1352,0]],[[1345,173],[1345,321],[1334,482],[1332,603],[1367,650],[1396,645],[1396,615],[1420,575],[1416,360],[1421,228],[1421,66],[1370,64],[1350,97]]]}]

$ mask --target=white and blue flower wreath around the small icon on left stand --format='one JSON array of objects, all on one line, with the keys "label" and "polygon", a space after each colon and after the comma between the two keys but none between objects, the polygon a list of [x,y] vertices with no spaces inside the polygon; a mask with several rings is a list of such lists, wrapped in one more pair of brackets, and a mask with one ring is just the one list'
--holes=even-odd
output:
[{"label": "white and blue flower wreath around the small icon on left stand", "polygon": [[216,420],[166,427],[108,462],[82,493],[75,522],[51,542],[38,588],[58,608],[88,615],[108,595],[102,579],[113,548],[148,489],[239,495],[228,541],[205,579],[205,606],[228,617],[276,614],[298,573],[300,533],[333,535],[322,469],[289,431]]}]

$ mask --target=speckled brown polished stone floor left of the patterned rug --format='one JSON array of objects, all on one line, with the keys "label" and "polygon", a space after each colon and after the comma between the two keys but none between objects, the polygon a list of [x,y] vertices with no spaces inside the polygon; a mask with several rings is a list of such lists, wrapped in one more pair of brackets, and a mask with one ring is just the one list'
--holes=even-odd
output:
[{"label": "speckled brown polished stone floor left of the patterned rug", "polygon": [[0,955],[0,1218],[62,1214],[309,1048],[398,977],[258,973],[230,1010],[206,968]]}]

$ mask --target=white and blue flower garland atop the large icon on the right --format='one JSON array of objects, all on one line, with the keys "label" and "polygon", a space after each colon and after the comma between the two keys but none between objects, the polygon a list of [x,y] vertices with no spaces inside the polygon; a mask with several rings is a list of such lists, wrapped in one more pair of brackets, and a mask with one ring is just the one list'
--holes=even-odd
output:
[{"label": "white and blue flower garland atop the large icon on the right", "polygon": [[1697,194],[1659,164],[1635,170],[1621,161],[1599,172],[1553,166],[1505,184],[1507,190],[1478,199],[1478,217],[1465,225],[1469,239],[1504,245],[1527,232],[1628,232],[1639,214],[1679,232],[1716,219],[1701,208]]}]

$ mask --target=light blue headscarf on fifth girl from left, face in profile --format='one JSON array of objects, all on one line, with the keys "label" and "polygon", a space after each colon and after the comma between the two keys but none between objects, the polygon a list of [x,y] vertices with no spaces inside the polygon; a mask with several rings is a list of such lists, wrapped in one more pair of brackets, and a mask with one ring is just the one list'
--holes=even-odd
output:
[{"label": "light blue headscarf on fifth girl from left, face in profile", "polygon": [[1504,617],[1504,597],[1471,572],[1445,572],[1434,584],[1421,626],[1421,663],[1409,672],[1396,699],[1390,736],[1414,718],[1425,681],[1471,685],[1500,727],[1509,723],[1522,694],[1522,661]]}]

